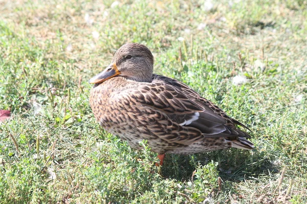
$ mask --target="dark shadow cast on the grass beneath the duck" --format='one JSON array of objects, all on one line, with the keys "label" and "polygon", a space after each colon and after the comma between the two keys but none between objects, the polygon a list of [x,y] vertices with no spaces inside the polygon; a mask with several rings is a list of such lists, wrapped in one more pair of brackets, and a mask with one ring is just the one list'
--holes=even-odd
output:
[{"label": "dark shadow cast on the grass beneath the duck", "polygon": [[217,171],[223,181],[239,182],[279,172],[272,163],[278,152],[224,149],[196,155],[166,155],[162,176],[178,181],[190,181],[199,165],[217,162]]}]

